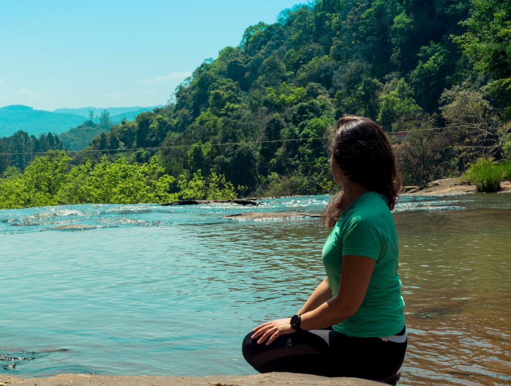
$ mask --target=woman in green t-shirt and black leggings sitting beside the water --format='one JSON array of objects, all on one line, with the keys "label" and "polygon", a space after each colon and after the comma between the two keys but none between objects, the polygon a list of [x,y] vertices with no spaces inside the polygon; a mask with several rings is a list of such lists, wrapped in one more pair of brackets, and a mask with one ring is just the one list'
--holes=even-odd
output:
[{"label": "woman in green t-shirt and black leggings sitting beside the water", "polygon": [[396,384],[407,333],[391,210],[401,190],[392,147],[374,121],[343,116],[331,143],[342,191],[322,222],[331,229],[327,277],[292,318],[255,327],[243,356],[260,372],[358,377]]}]

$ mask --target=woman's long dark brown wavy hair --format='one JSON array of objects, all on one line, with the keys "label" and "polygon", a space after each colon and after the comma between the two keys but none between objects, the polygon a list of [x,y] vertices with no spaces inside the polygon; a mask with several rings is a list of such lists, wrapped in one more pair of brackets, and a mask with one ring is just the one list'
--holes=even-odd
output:
[{"label": "woman's long dark brown wavy hair", "polygon": [[[402,188],[396,157],[382,128],[373,120],[344,115],[337,121],[329,152],[346,178],[383,194],[390,210]],[[333,229],[344,206],[344,192],[335,194],[323,210],[321,222]]]}]

